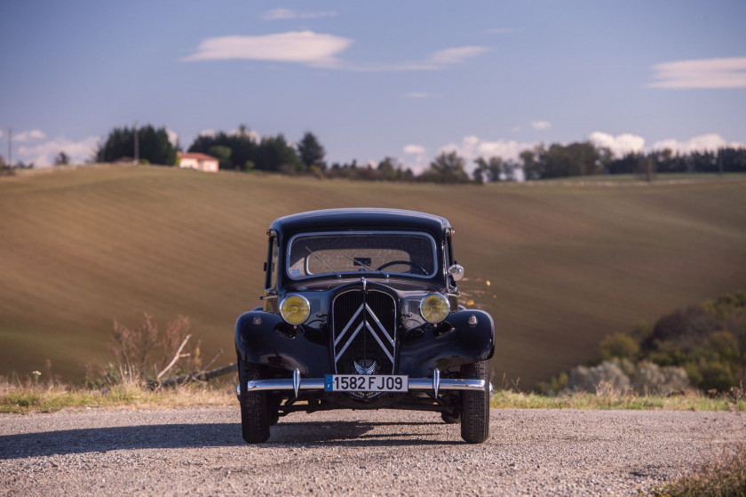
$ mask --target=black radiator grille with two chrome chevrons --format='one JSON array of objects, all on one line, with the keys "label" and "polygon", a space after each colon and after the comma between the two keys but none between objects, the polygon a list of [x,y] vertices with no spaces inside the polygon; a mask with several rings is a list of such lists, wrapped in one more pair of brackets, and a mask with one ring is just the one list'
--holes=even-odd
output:
[{"label": "black radiator grille with two chrome chevrons", "polygon": [[[348,290],[332,303],[332,349],[337,374],[392,374],[396,362],[396,301],[378,290]],[[357,363],[358,368],[355,368]]]}]

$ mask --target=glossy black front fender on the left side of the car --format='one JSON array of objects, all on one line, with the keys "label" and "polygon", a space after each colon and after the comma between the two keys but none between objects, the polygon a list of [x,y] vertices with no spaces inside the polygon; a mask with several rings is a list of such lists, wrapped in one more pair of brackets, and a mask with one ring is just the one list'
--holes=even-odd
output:
[{"label": "glossy black front fender on the left side of the car", "polygon": [[246,362],[285,371],[298,368],[303,376],[319,378],[329,373],[329,347],[316,334],[321,332],[294,329],[276,314],[252,310],[235,323],[236,354]]}]

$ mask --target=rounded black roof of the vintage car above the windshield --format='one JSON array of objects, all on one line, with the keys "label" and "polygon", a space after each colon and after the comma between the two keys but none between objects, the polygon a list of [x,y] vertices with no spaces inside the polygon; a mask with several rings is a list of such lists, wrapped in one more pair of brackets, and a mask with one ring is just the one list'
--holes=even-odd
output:
[{"label": "rounded black roof of the vintage car above the windshield", "polygon": [[345,229],[382,229],[426,231],[442,236],[450,228],[447,219],[425,212],[401,209],[325,209],[300,212],[274,220],[270,229],[281,235],[299,232]]}]

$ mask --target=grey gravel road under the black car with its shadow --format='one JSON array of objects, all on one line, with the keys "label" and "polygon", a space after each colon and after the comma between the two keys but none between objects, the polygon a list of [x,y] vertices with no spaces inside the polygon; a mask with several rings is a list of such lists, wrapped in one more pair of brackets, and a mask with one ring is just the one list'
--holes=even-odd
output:
[{"label": "grey gravel road under the black car with its shadow", "polygon": [[0,494],[631,494],[746,439],[746,413],[492,410],[466,445],[435,413],[294,413],[244,445],[238,405],[0,415]]}]

